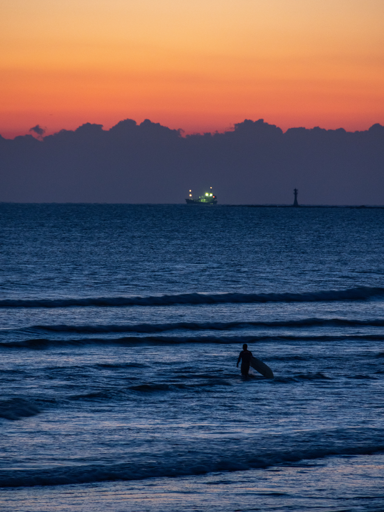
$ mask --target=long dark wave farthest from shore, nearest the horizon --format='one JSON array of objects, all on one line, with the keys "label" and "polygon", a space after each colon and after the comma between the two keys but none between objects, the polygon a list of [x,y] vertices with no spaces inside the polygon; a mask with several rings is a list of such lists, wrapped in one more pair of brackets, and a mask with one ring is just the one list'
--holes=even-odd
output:
[{"label": "long dark wave farthest from shore, nearest the horizon", "polygon": [[384,295],[384,288],[360,286],[346,290],[324,290],[306,293],[181,293],[148,297],[86,297],[7,299],[0,301],[2,308],[66,308],[84,306],[170,306],[172,304],[225,304],[265,302],[328,302],[362,301]]}]

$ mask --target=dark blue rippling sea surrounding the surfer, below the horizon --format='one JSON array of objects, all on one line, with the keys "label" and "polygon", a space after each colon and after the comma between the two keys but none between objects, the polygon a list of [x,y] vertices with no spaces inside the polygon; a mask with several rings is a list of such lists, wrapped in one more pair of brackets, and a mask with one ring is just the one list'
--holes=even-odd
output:
[{"label": "dark blue rippling sea surrounding the surfer, below the horizon", "polygon": [[0,220],[1,510],[384,510],[384,210]]}]

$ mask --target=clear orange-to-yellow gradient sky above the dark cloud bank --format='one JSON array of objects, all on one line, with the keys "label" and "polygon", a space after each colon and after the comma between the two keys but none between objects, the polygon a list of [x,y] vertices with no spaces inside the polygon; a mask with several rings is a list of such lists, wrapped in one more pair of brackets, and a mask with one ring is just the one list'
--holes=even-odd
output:
[{"label": "clear orange-to-yellow gradient sky above the dark cloud bank", "polygon": [[3,0],[0,134],[384,124],[382,0]]}]

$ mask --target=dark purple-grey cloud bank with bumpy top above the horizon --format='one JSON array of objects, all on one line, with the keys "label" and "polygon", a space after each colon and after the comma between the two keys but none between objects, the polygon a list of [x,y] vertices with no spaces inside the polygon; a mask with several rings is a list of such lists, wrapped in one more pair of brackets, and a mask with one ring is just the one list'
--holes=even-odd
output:
[{"label": "dark purple-grey cloud bank with bumpy top above the horizon", "polygon": [[384,204],[384,126],[364,132],[245,120],[224,134],[182,137],[148,119],[111,130],[0,136],[0,201],[181,203],[213,186],[219,203]]}]

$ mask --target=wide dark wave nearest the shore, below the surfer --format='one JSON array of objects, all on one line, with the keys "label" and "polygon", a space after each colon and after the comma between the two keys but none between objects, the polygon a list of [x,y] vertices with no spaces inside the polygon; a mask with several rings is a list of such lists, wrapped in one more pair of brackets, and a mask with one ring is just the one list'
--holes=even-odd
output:
[{"label": "wide dark wave nearest the shore, below the surfer", "polygon": [[[201,475],[209,472],[244,471],[275,464],[297,462],[302,459],[319,459],[332,455],[364,455],[382,452],[382,431],[379,429],[346,429],[344,431],[301,432],[298,436],[284,436],[261,444],[261,439],[248,439],[247,449],[239,450],[227,443],[194,447],[188,450],[178,446],[177,452],[143,454],[120,464],[84,464],[54,466],[33,470],[0,471],[0,487],[34,485],[66,485],[88,482],[142,480],[151,477],[177,477]],[[341,440],[342,439],[342,440]],[[182,453],[180,453],[182,452]]]}]

